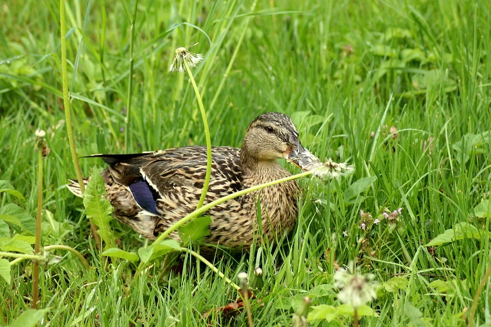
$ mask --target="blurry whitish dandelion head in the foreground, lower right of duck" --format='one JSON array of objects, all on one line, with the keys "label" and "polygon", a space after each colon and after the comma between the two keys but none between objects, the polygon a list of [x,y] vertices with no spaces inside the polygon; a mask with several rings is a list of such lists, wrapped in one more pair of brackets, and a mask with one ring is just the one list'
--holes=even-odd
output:
[{"label": "blurry whitish dandelion head in the foreground, lower right of duck", "polygon": [[361,275],[359,270],[354,270],[351,261],[348,264],[348,271],[344,268],[339,269],[334,274],[336,286],[340,289],[338,298],[343,303],[348,303],[353,308],[359,308],[377,297],[373,275]]}]

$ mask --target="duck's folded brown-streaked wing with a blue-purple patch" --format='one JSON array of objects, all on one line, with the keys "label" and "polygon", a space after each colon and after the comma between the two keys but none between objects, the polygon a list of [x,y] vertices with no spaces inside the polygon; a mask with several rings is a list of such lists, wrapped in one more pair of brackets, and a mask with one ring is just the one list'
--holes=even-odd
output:
[{"label": "duck's folded brown-streaked wing with a blue-purple patch", "polygon": [[[162,215],[159,202],[194,203],[206,175],[206,147],[191,146],[130,155],[96,155],[109,163],[114,181],[128,189],[138,205]],[[215,198],[241,189],[240,150],[212,148],[209,193]]]}]

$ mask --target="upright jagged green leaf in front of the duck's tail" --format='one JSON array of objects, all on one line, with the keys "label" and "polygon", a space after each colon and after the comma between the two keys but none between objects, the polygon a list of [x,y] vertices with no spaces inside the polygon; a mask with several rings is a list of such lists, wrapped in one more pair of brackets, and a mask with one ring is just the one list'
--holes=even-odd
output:
[{"label": "upright jagged green leaf in front of the duck's tail", "polygon": [[100,173],[94,169],[83,193],[83,206],[88,217],[99,227],[104,249],[116,248],[116,239],[109,222],[113,220],[113,207],[105,197],[106,187]]}]

